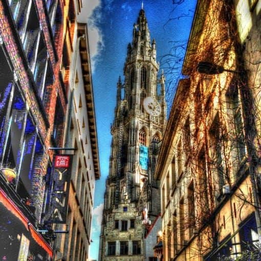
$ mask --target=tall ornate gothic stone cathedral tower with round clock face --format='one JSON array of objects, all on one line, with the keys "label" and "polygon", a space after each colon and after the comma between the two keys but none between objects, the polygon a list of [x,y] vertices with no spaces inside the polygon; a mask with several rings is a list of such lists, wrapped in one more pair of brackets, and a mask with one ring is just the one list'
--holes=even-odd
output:
[{"label": "tall ornate gothic stone cathedral tower with round clock face", "polygon": [[111,126],[99,260],[143,260],[146,228],[160,212],[154,180],[157,151],[166,125],[165,78],[157,78],[156,41],[150,41],[140,10],[128,44],[124,83],[117,83]]}]

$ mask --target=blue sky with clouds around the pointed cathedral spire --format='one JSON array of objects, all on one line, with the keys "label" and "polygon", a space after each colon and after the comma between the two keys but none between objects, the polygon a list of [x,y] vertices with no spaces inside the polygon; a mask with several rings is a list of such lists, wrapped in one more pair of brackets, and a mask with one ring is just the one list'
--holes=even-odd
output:
[{"label": "blue sky with clouds around the pointed cathedral spire", "polygon": [[[100,222],[105,179],[111,149],[110,126],[114,118],[116,84],[123,79],[127,44],[141,9],[140,0],[85,0],[92,57],[93,89],[101,178],[96,182],[90,258],[98,260]],[[180,4],[177,4],[180,3]],[[195,0],[144,0],[151,40],[156,39],[157,60],[166,77],[168,111],[189,37]]]}]

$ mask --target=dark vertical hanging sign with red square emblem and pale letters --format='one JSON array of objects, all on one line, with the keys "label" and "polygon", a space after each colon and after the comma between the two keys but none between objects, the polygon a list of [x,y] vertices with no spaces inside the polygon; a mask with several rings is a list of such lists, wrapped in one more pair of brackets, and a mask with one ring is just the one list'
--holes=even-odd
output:
[{"label": "dark vertical hanging sign with red square emblem and pale letters", "polygon": [[49,180],[46,223],[66,224],[73,155],[56,155]]}]

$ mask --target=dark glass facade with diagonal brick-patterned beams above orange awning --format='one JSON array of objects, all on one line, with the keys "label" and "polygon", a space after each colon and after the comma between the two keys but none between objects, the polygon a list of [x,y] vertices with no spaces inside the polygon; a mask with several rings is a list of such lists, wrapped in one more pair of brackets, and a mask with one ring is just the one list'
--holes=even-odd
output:
[{"label": "dark glass facade with diagonal brick-patterned beams above orange awning", "polygon": [[3,260],[53,256],[51,239],[38,228],[54,156],[49,148],[63,141],[61,116],[67,101],[59,77],[62,8],[58,1],[0,2]]}]

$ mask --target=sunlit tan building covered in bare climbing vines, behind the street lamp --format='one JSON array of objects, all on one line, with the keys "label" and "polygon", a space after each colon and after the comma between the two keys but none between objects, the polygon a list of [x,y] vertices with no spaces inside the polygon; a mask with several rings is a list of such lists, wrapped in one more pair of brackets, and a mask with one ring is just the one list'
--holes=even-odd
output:
[{"label": "sunlit tan building covered in bare climbing vines, behind the street lamp", "polygon": [[256,254],[260,243],[261,4],[250,2],[197,4],[187,78],[179,82],[155,172],[164,260],[235,259]]}]

